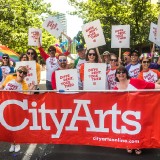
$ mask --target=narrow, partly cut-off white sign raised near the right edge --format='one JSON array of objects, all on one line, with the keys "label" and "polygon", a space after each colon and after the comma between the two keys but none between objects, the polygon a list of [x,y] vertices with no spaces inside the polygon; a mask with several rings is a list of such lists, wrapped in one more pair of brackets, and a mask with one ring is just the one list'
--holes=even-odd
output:
[{"label": "narrow, partly cut-off white sign raised near the right edge", "polygon": [[157,41],[157,25],[151,22],[149,40],[153,43]]}]

